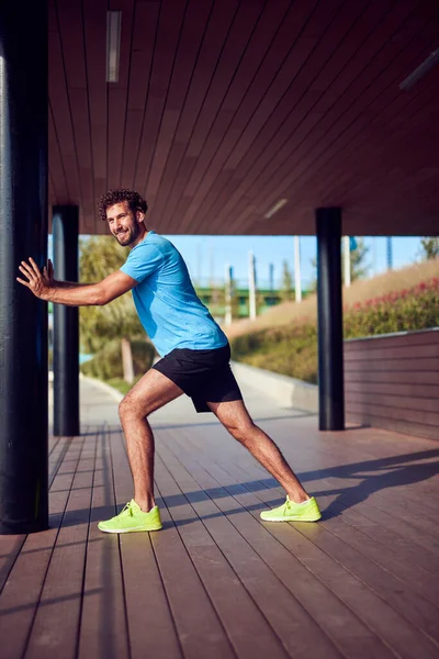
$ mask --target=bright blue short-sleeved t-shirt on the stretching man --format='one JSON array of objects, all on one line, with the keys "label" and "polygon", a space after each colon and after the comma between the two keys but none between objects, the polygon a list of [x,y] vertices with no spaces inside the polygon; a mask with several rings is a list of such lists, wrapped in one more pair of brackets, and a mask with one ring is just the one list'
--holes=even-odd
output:
[{"label": "bright blue short-sleeved t-shirt on the stretching man", "polygon": [[227,344],[227,337],[198,298],[188,268],[176,247],[150,231],[133,247],[122,272],[138,283],[134,304],[160,356],[175,348],[210,350]]}]

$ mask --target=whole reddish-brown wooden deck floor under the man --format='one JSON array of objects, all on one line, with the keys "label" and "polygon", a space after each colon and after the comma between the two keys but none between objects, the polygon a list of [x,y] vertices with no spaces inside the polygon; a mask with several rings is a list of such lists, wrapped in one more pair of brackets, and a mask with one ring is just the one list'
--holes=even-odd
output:
[{"label": "whole reddish-brown wooden deck floor under the man", "polygon": [[157,424],[164,530],[104,535],[132,496],[120,428],[53,439],[52,528],[0,537],[1,659],[438,658],[439,444],[260,425],[320,523],[261,523],[281,490],[203,415]]}]

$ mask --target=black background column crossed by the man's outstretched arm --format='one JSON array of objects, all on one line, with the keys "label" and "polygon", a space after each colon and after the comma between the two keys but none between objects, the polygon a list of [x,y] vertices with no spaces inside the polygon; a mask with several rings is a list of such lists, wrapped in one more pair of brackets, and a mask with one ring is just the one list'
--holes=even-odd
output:
[{"label": "black background column crossed by the man's outstretched arm", "polygon": [[[78,206],[54,206],[55,279],[78,281]],[[54,435],[79,435],[79,314],[54,304]]]}]

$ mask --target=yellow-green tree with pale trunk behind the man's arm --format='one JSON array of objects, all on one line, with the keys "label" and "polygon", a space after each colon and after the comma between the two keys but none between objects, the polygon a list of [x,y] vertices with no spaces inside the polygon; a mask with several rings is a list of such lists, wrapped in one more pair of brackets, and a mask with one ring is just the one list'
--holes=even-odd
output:
[{"label": "yellow-green tree with pale trunk behind the man's arm", "polygon": [[[79,272],[83,283],[101,281],[126,260],[126,249],[114,238],[95,236],[81,241]],[[124,380],[134,379],[132,336],[143,333],[131,295],[122,295],[104,306],[82,306],[79,314],[81,343],[87,353],[95,353],[112,338],[121,339]]]}]

